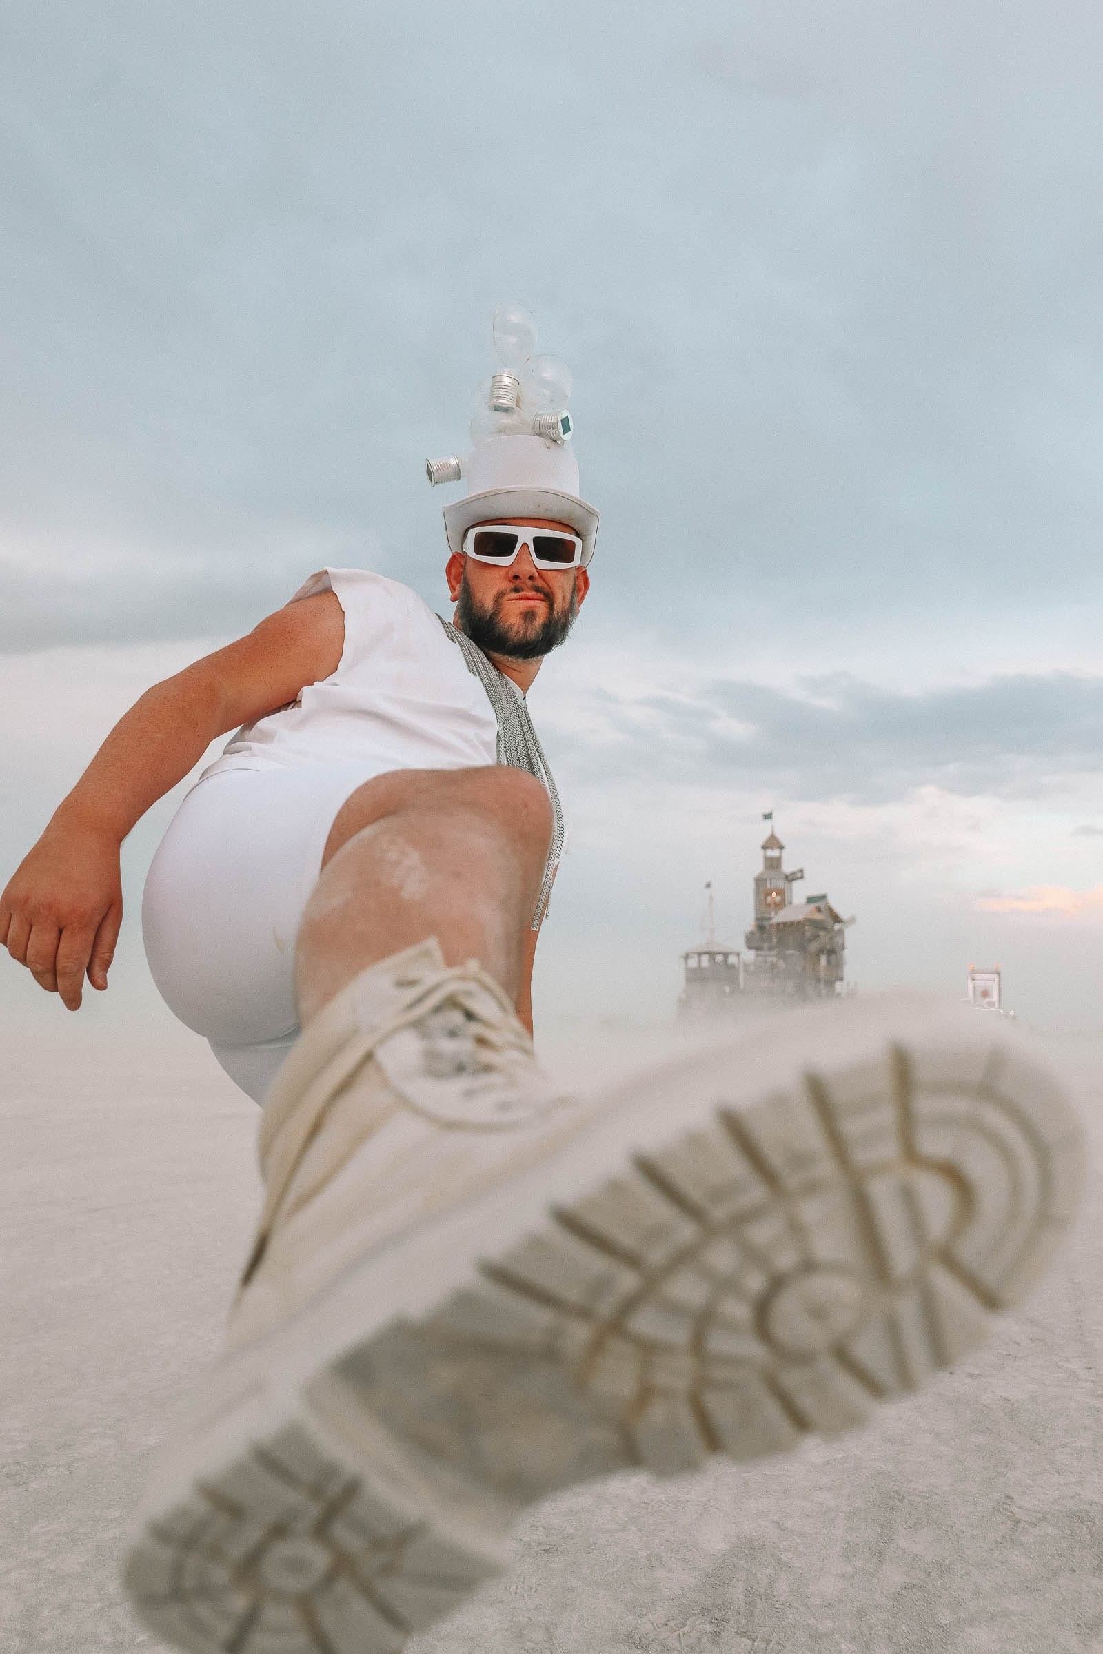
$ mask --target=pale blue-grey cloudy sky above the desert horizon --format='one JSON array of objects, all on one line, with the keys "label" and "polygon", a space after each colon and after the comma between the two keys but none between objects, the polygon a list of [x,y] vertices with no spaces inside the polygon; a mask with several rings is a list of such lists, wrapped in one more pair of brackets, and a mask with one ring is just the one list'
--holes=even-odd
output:
[{"label": "pale blue-grey cloudy sky above the desert horizon", "polygon": [[[774,809],[862,989],[999,961],[1095,1025],[1101,56],[1086,0],[12,0],[3,877],[313,569],[443,604],[422,463],[519,299],[602,509],[532,691],[574,822],[546,1017],[668,1016]],[[137,903],[179,796],[124,847],[107,1030],[167,1017]],[[8,966],[0,1017],[68,1014]]]}]

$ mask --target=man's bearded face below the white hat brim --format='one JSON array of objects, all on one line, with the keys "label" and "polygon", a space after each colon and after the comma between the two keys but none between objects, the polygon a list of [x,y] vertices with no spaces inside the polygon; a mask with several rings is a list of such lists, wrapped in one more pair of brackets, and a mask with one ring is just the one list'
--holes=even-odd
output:
[{"label": "man's bearded face below the white hat brim", "polygon": [[[549,518],[494,521],[574,533],[569,523]],[[536,660],[557,648],[590,589],[585,569],[537,569],[528,544],[518,549],[509,567],[451,556],[446,574],[460,630],[485,653],[513,660]]]}]

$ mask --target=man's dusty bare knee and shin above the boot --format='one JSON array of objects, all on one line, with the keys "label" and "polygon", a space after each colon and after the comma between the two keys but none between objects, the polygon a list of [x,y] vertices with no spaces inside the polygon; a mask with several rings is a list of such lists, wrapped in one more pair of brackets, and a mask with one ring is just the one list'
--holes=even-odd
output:
[{"label": "man's dusty bare knee and shin above the boot", "polygon": [[516,999],[551,832],[547,794],[519,769],[395,771],[357,787],[299,925],[303,1024],[427,936],[446,964],[478,959]]}]

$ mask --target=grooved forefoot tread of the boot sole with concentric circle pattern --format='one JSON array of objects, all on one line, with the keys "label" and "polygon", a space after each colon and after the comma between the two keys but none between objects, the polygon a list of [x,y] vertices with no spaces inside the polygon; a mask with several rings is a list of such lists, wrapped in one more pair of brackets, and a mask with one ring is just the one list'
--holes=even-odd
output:
[{"label": "grooved forefoot tread of the boot sole with concentric circle pattern", "polygon": [[891,1047],[739,1113],[716,1098],[708,1125],[486,1262],[428,1331],[442,1373],[465,1343],[501,1351],[503,1384],[511,1358],[561,1365],[627,1465],[754,1459],[976,1348],[1078,1188],[1075,1118],[1045,1072],[996,1045]]}]

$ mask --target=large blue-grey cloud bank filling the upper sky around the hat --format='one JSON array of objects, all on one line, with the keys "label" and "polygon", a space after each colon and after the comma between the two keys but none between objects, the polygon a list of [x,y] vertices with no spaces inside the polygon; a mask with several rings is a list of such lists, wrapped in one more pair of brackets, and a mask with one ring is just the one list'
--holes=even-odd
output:
[{"label": "large blue-grey cloud bank filling the upper sky around the hat", "polygon": [[417,582],[422,460],[513,296],[575,370],[625,625],[804,609],[845,655],[916,605],[982,643],[1090,600],[1098,8],[453,12],[5,7],[0,528],[64,567],[26,544],[3,647],[235,630],[241,514],[370,528]]}]

